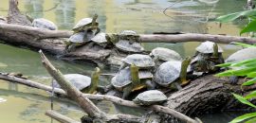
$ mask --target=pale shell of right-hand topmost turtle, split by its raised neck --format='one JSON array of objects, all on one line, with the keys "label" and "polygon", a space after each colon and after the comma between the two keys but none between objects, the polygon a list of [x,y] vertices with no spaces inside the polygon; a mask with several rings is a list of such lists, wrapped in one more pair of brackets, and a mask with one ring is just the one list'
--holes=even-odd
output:
[{"label": "pale shell of right-hand topmost turtle, split by its raised neck", "polygon": [[[206,41],[200,44],[199,46],[197,46],[195,49],[200,53],[213,53],[213,45],[214,43],[210,41]],[[219,53],[223,52],[223,49],[219,45],[218,45],[218,52]]]}]

